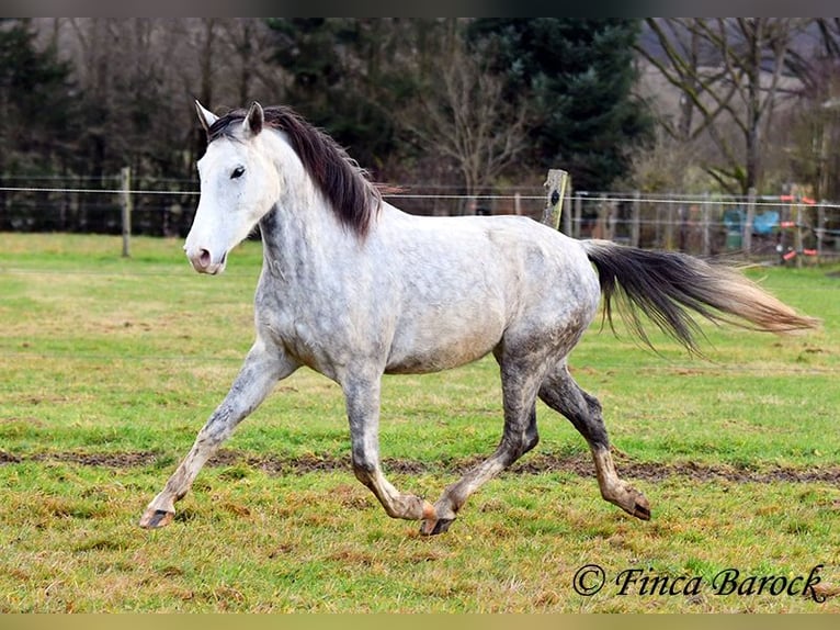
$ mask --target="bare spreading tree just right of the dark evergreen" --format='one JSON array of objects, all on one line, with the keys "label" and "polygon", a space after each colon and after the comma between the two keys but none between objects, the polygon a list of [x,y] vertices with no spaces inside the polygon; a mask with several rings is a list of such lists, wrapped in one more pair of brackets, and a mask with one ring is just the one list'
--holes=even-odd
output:
[{"label": "bare spreading tree just right of the dark evergreen", "polygon": [[783,70],[793,35],[805,24],[791,18],[647,20],[659,46],[637,50],[681,93],[679,125],[662,120],[662,126],[682,140],[707,133],[719,160],[706,170],[726,190],[761,188]]}]

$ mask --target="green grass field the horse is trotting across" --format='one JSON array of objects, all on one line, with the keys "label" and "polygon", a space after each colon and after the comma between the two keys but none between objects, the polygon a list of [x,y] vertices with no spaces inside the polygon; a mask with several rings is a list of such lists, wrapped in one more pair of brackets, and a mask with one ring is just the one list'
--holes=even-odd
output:
[{"label": "green grass field the horse is trotting across", "polygon": [[[805,336],[704,326],[692,359],[652,329],[659,355],[587,334],[574,371],[649,522],[600,498],[583,440],[541,407],[537,449],[422,538],[355,481],[339,389],[302,370],[148,532],[252,341],[259,244],[218,278],[180,246],[0,234],[0,612],[840,611],[837,268],[749,271],[825,322]],[[500,406],[492,360],[386,378],[390,480],[436,499],[496,446]],[[590,596],[586,565],[605,575]]]}]

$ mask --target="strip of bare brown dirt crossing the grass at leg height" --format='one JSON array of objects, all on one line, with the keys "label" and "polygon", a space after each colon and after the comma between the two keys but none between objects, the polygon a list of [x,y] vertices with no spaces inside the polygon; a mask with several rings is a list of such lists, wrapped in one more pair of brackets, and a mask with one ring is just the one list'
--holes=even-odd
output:
[{"label": "strip of bare brown dirt crossing the grass at leg height", "polygon": [[[115,453],[80,453],[54,452],[38,453],[30,457],[19,457],[0,451],[0,465],[20,463],[22,461],[60,461],[86,466],[111,469],[129,469],[155,465],[157,453],[152,451],[115,452]],[[783,466],[748,468],[727,464],[699,464],[693,462],[660,464],[655,462],[633,461],[627,455],[615,452],[615,463],[621,475],[628,480],[645,480],[649,482],[663,481],[674,476],[685,476],[699,481],[728,481],[734,483],[831,483],[840,484],[840,466],[793,469]],[[480,461],[480,458],[451,460],[441,462],[419,462],[402,459],[385,459],[383,468],[389,474],[417,475],[423,473],[462,474]],[[303,474],[319,471],[351,471],[350,458],[310,454],[300,458],[279,458],[270,455],[253,455],[241,451],[223,449],[207,462],[209,466],[228,468],[245,465],[261,470],[266,474],[285,475]],[[583,477],[594,476],[592,460],[587,453],[561,457],[552,453],[527,455],[515,463],[502,475],[523,475],[565,472]]]}]

